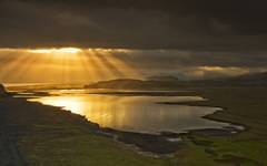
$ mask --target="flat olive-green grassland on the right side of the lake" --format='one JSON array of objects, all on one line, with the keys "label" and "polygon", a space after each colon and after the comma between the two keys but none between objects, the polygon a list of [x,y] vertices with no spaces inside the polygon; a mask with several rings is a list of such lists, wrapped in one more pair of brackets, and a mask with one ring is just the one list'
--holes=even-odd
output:
[{"label": "flat olive-green grassland on the right side of the lake", "polygon": [[[209,101],[187,104],[224,107],[225,111],[216,112],[208,118],[243,124],[247,131],[231,136],[204,136],[191,133],[189,142],[194,145],[189,146],[186,153],[179,152],[178,158],[184,156],[186,164],[198,156],[195,149],[200,148],[209,154],[207,163],[211,158],[226,165],[267,165],[267,89],[225,86],[194,89],[194,92]],[[186,155],[187,153],[189,155]],[[201,158],[205,160],[205,157]]]}]

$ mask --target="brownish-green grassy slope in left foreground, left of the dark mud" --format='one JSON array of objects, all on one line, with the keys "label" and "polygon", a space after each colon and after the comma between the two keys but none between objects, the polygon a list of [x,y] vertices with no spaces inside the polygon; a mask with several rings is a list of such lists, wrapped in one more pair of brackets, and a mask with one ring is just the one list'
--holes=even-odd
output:
[{"label": "brownish-green grassy slope in left foreground, left of the dark mud", "polygon": [[7,134],[18,136],[16,144],[28,165],[170,165],[169,159],[144,156],[92,133],[95,126],[79,115],[11,97],[1,98],[0,107],[7,111],[7,127],[12,128]]}]

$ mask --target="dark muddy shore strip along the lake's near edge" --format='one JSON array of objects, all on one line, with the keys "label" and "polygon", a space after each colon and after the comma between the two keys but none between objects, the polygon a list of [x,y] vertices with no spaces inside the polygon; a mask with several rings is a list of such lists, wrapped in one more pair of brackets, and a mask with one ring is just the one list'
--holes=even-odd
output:
[{"label": "dark muddy shore strip along the lake's near edge", "polygon": [[[28,98],[22,98],[26,102]],[[199,101],[196,101],[199,102]],[[32,102],[30,102],[32,103]],[[60,108],[60,111],[63,112],[70,112],[66,111],[62,107],[57,107],[57,106],[51,106],[51,105],[44,105],[39,102],[33,102],[38,103],[42,106],[50,106],[50,107],[56,107]],[[187,103],[187,102],[185,102]],[[155,103],[157,104],[157,103]],[[181,105],[187,105],[187,104],[181,104]],[[217,111],[216,111],[217,112]],[[127,132],[127,131],[118,131],[115,128],[109,128],[109,127],[102,127],[97,123],[93,123],[89,120],[87,120],[85,116],[80,114],[75,114],[70,112],[73,115],[81,116],[83,120],[87,121],[89,124],[96,125],[98,127],[97,134],[100,133],[100,135],[106,136],[106,137],[111,137],[116,142],[122,143],[126,146],[135,146],[134,148],[138,149],[139,153],[142,154],[148,154],[148,155],[171,155],[179,151],[184,144],[182,137],[188,137],[192,133],[198,133],[201,135],[208,135],[208,136],[227,136],[227,135],[234,135],[237,133],[240,133],[243,131],[238,131],[233,126],[231,128],[200,128],[200,129],[188,129],[182,133],[175,133],[175,132],[168,132],[168,131],[161,131],[159,134],[151,134],[151,133],[139,133],[139,132]],[[202,116],[201,118],[207,118]],[[211,120],[214,121],[214,120]],[[220,121],[216,121],[220,122]],[[233,123],[229,123],[230,125]],[[235,132],[235,133],[233,133]],[[179,142],[174,142],[171,139],[180,139]]]}]

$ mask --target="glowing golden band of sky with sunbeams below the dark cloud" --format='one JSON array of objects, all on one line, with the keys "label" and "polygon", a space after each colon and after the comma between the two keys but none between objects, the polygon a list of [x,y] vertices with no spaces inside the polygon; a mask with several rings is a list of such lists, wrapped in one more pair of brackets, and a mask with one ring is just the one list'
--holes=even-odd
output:
[{"label": "glowing golden band of sky with sunbeams below the dark cloud", "polygon": [[3,48],[0,49],[0,82],[77,83],[164,74],[197,80],[267,71],[263,66],[243,66],[239,59],[229,61],[235,65],[226,65],[221,59],[208,54],[204,61],[196,53],[179,50]]}]

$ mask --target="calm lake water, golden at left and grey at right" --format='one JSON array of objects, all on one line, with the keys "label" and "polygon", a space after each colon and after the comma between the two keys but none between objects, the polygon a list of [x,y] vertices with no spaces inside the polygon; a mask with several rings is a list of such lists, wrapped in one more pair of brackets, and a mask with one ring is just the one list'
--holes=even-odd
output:
[{"label": "calm lake water, golden at left and grey at right", "polygon": [[202,118],[218,108],[187,105],[162,105],[157,102],[199,101],[199,96],[118,96],[86,94],[77,91],[57,91],[52,96],[29,98],[46,105],[60,106],[66,111],[85,115],[103,127],[128,132],[181,133],[196,128],[230,126]]}]

